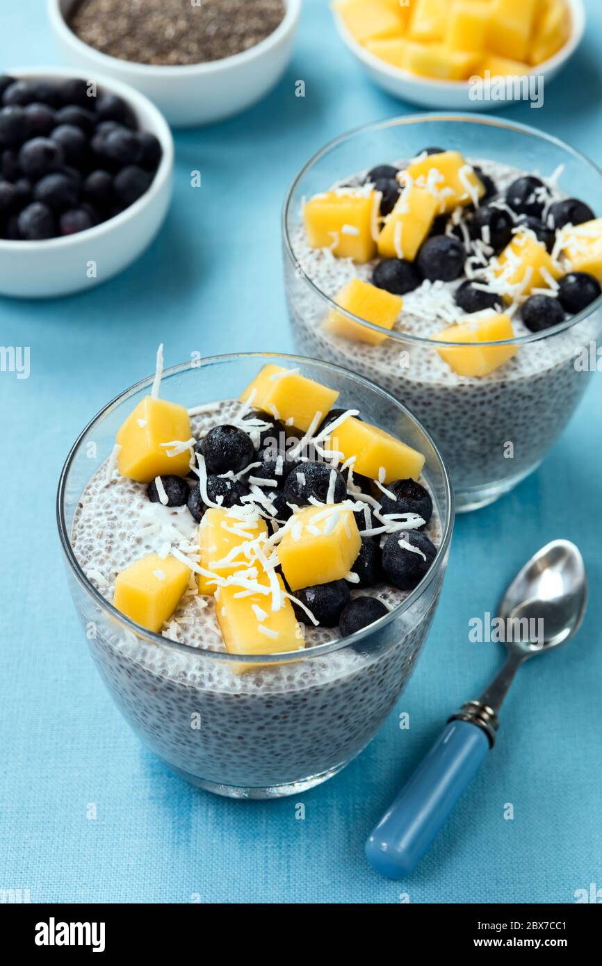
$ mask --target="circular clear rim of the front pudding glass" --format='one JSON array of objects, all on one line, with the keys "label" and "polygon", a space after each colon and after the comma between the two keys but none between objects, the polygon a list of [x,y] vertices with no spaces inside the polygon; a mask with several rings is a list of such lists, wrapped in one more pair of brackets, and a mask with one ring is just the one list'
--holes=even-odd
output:
[{"label": "circular clear rim of the front pudding glass", "polygon": [[410,592],[408,597],[399,604],[397,607],[389,611],[380,620],[375,621],[374,624],[368,625],[368,627],[350,635],[348,638],[341,638],[336,640],[331,640],[325,644],[316,644],[313,647],[307,647],[298,651],[282,651],[278,654],[230,654],[225,651],[212,651],[207,648],[193,647],[191,644],[181,643],[177,640],[172,640],[170,638],[164,638],[159,634],[155,634],[153,631],[147,631],[141,625],[136,624],[134,621],[130,620],[125,614],[118,611],[110,601],[102,596],[99,590],[94,586],[94,584],[87,578],[83,568],[79,564],[77,557],[74,554],[72,548],[71,535],[68,531],[67,521],[65,518],[65,496],[67,491],[67,481],[69,474],[72,469],[72,464],[80,450],[80,446],[85,440],[87,434],[91,429],[100,424],[101,420],[104,419],[106,415],[114,410],[117,410],[123,403],[127,402],[133,395],[143,389],[145,386],[151,386],[155,379],[155,376],[148,376],[141,379],[139,382],[130,385],[129,388],[125,389],[123,392],[119,393],[113,399],[111,399],[102,409],[96,413],[87,423],[87,425],[82,429],[82,431],[77,436],[76,440],[73,442],[72,447],[68,453],[67,459],[61,474],[59,477],[59,485],[56,496],[56,519],[57,526],[59,530],[59,537],[61,541],[61,546],[63,552],[66,555],[70,571],[76,578],[77,582],[86,591],[86,593],[93,598],[95,603],[103,610],[106,611],[109,617],[116,623],[121,624],[125,630],[133,634],[136,638],[143,639],[147,643],[162,644],[173,650],[181,651],[185,654],[197,654],[200,657],[209,657],[211,660],[220,660],[233,662],[234,664],[278,664],[283,661],[303,661],[306,659],[312,659],[320,657],[324,654],[328,654],[331,651],[341,650],[343,647],[349,647],[353,644],[365,640],[374,633],[375,627],[378,629],[385,627],[395,618],[401,616],[405,611],[410,610],[410,608],[416,603],[419,597],[422,596],[427,587],[435,580],[439,575],[442,563],[447,554],[449,543],[451,540],[451,534],[453,531],[454,517],[455,517],[455,503],[453,496],[453,489],[451,486],[451,481],[449,473],[444,464],[443,457],[439,451],[438,446],[432,439],[430,433],[424,428],[420,420],[416,417],[414,412],[408,409],[400,400],[396,399],[393,395],[387,392],[386,389],[381,388],[381,386],[371,383],[370,380],[364,379],[363,376],[358,376],[356,373],[351,372],[349,369],[345,369],[342,366],[335,365],[334,363],[323,361],[322,359],[313,359],[308,356],[303,355],[290,355],[287,353],[230,353],[226,355],[211,355],[200,360],[200,364],[196,360],[181,362],[178,365],[171,366],[165,369],[162,374],[162,379],[169,379],[171,376],[175,376],[178,373],[186,372],[188,369],[201,369],[204,365],[211,365],[215,362],[231,362],[238,359],[247,358],[258,358],[270,360],[271,358],[284,359],[290,362],[297,362],[302,364],[303,362],[311,362],[313,365],[324,368],[325,370],[334,370],[343,374],[346,378],[351,378],[353,381],[367,386],[371,391],[377,391],[381,396],[383,396],[387,402],[392,403],[401,412],[409,416],[410,419],[416,424],[420,432],[424,435],[428,443],[432,446],[433,452],[439,465],[443,471],[444,478],[444,496],[447,503],[447,510],[445,514],[445,520],[441,522],[443,529],[443,537],[440,547],[437,549],[437,554],[431,564],[428,572],[422,578],[422,580],[416,585],[415,589]]}]

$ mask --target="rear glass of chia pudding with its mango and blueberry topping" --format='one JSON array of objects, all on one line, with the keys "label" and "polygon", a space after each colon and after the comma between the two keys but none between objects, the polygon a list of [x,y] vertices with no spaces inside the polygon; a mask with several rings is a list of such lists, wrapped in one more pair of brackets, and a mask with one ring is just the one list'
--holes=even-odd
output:
[{"label": "rear glass of chia pudding with its mango and blueberry topping", "polygon": [[440,447],[459,511],[536,469],[596,371],[602,172],[487,117],[359,128],[283,209],[296,349],[385,387]]}]

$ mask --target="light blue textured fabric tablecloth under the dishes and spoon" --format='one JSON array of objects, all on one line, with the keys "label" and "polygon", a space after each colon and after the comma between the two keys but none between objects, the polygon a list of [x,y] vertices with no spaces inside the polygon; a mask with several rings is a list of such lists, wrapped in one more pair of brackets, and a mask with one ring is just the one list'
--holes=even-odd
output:
[{"label": "light blue textured fabric tablecloth under the dishes and spoon", "polygon": [[[3,5],[3,68],[57,61],[43,8]],[[588,13],[588,38],[544,108],[505,114],[599,160],[600,5],[590,0]],[[141,261],[84,296],[0,301],[0,342],[31,347],[29,380],[0,374],[0,888],[32,901],[388,903],[571,902],[602,886],[602,377],[538,472],[458,520],[441,606],[397,709],[410,729],[393,714],[348,769],[302,796],[304,820],[296,799],[215,798],[147,753],[100,683],[65,581],[55,486],[84,422],[152,370],[160,340],[167,364],[193,350],[291,349],[286,186],[333,135],[414,111],[368,83],[327,4],[306,0],[294,62],[269,99],[178,134],[173,206]],[[195,192],[192,169],[203,173]],[[447,715],[502,660],[501,645],[468,642],[469,618],[493,610],[524,559],[559,536],[582,548],[594,591],[579,638],[521,672],[498,746],[416,873],[380,878],[363,857],[366,835]]]}]

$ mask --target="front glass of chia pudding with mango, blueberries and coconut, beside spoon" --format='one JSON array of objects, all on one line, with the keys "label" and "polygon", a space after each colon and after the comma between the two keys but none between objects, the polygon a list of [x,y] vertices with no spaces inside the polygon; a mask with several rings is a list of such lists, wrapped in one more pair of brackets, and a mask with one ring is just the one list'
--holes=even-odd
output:
[{"label": "front glass of chia pudding with mango, blueberries and coconut, beside spoon", "polygon": [[272,354],[163,373],[159,350],[73,444],[57,514],[129,725],[187,781],[272,798],[335,775],[387,718],[454,509],[427,431],[363,377]]}]

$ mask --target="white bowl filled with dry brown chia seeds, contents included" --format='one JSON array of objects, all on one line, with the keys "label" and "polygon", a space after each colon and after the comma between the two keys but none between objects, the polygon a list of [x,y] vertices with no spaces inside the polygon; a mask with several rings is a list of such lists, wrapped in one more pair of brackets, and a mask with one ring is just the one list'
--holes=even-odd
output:
[{"label": "white bowl filled with dry brown chia seeds, contents included", "polygon": [[48,0],[61,53],[153,100],[175,128],[266,95],[285,70],[301,0]]}]

